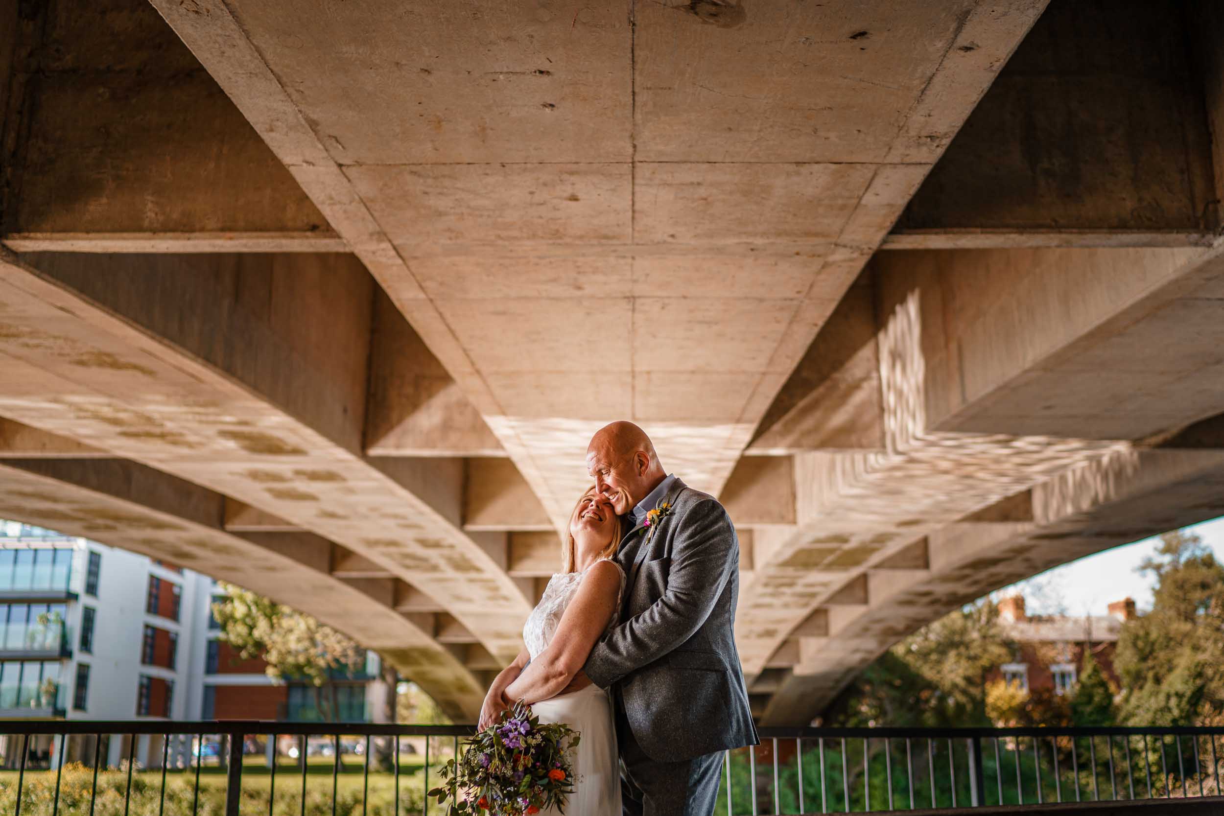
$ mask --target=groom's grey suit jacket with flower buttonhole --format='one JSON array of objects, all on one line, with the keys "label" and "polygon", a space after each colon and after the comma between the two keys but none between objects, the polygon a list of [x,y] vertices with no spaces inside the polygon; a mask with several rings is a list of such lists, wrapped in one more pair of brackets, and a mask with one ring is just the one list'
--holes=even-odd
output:
[{"label": "groom's grey suit jacket with flower buttonhole", "polygon": [[612,689],[619,725],[659,761],[690,760],[759,739],[733,625],[739,540],[718,502],[676,480],[671,514],[632,529],[617,560],[627,584],[621,625],[583,670]]}]

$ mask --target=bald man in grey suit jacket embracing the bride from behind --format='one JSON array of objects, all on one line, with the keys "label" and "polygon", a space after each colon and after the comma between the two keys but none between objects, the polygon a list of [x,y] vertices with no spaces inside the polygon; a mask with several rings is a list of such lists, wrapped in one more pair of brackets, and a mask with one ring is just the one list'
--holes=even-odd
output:
[{"label": "bald man in grey suit jacket embracing the bride from behind", "polygon": [[663,471],[632,422],[600,429],[586,466],[627,530],[624,623],[583,667],[612,690],[624,814],[709,816],[722,751],[759,741],[733,632],[736,529],[717,500]]}]

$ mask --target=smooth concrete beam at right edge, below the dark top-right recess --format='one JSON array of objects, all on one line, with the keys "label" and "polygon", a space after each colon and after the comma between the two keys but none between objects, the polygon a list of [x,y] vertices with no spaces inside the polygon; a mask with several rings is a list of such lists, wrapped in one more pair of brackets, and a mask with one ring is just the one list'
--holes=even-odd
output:
[{"label": "smooth concrete beam at right edge, below the dark top-right recess", "polygon": [[920,314],[931,431],[1140,439],[1224,401],[1222,251],[887,252],[875,268],[884,313]]}]

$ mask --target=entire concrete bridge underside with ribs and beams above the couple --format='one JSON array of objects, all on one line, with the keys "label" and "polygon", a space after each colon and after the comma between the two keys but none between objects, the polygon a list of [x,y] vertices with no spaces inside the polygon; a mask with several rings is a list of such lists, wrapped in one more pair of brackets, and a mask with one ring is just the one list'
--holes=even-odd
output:
[{"label": "entire concrete bridge underside with ribs and beams above the couple", "polygon": [[633,418],[774,724],[1224,514],[1219,10],[912,5],[0,0],[0,515],[471,718]]}]

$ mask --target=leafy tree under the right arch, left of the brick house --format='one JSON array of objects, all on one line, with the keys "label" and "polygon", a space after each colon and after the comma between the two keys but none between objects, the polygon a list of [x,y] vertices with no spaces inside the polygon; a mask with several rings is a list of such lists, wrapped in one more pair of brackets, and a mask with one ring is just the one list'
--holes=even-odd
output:
[{"label": "leafy tree under the right arch, left of the brick house", "polygon": [[834,701],[842,725],[989,725],[987,678],[1012,656],[989,598],[923,626],[885,652]]}]

